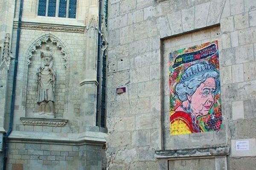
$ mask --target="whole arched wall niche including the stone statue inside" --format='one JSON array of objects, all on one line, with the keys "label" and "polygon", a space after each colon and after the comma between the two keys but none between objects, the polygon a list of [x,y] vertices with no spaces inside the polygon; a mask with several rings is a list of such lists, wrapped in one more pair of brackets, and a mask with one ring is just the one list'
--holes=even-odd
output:
[{"label": "whole arched wall niche including the stone statue inside", "polygon": [[62,118],[68,98],[67,54],[50,35],[34,45],[26,61],[26,116]]}]

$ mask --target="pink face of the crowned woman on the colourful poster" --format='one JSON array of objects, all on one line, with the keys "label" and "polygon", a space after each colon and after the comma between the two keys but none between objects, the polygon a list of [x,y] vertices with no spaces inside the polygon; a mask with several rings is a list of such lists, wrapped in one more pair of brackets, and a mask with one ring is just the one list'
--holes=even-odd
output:
[{"label": "pink face of the crowned woman on the colourful poster", "polygon": [[214,78],[206,79],[196,89],[195,93],[189,97],[192,113],[198,116],[207,115],[214,103],[214,91],[216,89]]}]

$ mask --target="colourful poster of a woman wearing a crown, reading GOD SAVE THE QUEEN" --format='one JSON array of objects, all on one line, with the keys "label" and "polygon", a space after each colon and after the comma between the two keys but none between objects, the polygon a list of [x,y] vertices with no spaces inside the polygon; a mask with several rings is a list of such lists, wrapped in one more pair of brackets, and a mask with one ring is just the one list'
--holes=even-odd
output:
[{"label": "colourful poster of a woman wearing a crown, reading GOD SAVE THE QUEEN", "polygon": [[220,130],[218,41],[169,55],[171,135]]}]

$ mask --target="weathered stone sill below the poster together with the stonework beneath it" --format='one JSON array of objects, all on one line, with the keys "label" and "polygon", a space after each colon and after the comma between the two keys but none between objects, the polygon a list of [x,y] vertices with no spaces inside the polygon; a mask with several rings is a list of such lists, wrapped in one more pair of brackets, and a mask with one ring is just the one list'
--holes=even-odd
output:
[{"label": "weathered stone sill below the poster together with the stonework beneath it", "polygon": [[157,150],[160,170],[227,170],[229,146],[212,146],[180,150]]}]

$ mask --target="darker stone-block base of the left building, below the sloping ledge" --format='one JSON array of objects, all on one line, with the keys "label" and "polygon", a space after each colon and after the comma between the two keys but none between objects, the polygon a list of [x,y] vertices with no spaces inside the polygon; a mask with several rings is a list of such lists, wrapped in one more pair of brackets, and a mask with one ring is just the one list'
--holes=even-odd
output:
[{"label": "darker stone-block base of the left building, below the sloping ledge", "polygon": [[9,170],[101,170],[101,146],[11,143]]}]

